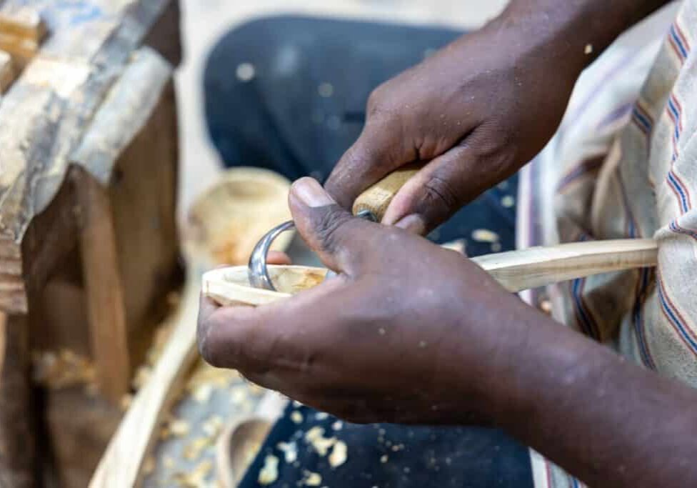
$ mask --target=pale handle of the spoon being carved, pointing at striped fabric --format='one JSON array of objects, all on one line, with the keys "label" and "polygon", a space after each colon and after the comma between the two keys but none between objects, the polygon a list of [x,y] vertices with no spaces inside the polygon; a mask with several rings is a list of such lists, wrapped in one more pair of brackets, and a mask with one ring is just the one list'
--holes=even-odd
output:
[{"label": "pale handle of the spoon being carved, pointing at striped fabric", "polygon": [[658,244],[653,239],[618,239],[531,247],[472,261],[509,291],[520,292],[593,274],[654,267],[657,259]]}]

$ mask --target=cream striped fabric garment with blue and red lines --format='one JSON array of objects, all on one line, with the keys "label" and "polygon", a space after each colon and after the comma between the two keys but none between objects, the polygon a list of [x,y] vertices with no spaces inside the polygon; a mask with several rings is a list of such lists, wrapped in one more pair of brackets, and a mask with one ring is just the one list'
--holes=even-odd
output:
[{"label": "cream striped fabric garment with blue and red lines", "polygon": [[[697,0],[623,35],[521,174],[518,247],[651,237],[658,267],[524,293],[568,327],[697,387]],[[583,484],[531,452],[536,487]]]}]

